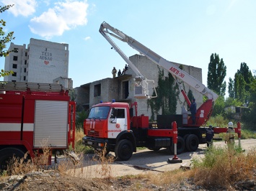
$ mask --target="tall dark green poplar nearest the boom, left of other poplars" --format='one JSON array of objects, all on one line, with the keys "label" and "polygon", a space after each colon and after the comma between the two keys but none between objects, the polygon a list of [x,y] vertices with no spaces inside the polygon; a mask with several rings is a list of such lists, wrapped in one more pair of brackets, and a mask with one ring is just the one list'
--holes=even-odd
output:
[{"label": "tall dark green poplar nearest the boom, left of other poplars", "polygon": [[207,86],[219,95],[225,95],[226,91],[226,65],[219,55],[212,54],[208,65]]}]

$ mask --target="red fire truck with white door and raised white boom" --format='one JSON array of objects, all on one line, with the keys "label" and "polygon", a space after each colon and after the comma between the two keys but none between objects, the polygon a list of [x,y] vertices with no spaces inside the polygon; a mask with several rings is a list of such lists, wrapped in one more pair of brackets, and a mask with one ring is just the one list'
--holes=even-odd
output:
[{"label": "red fire truck with white door and raised white boom", "polygon": [[[192,118],[188,116],[185,106],[182,107],[180,115],[157,116],[157,124],[149,123],[149,116],[137,115],[136,103],[115,103],[115,101],[107,103],[98,103],[92,106],[88,118],[84,121],[84,134],[82,143],[92,146],[96,150],[107,149],[107,152],[115,152],[115,156],[120,160],[128,160],[136,147],[146,146],[147,148],[157,151],[161,148],[167,148],[174,152],[173,139],[177,137],[177,153],[194,152],[198,149],[198,144],[206,144],[206,131],[208,128],[201,127],[206,124],[213,111],[214,102],[219,95],[203,85],[193,76],[185,73],[177,67],[173,62],[165,60],[163,57],[145,47],[127,34],[121,32],[110,24],[103,22],[100,26],[100,33],[112,48],[123,57],[129,67],[136,73],[134,78],[134,97],[135,98],[153,98],[149,95],[149,83],[154,84],[154,80],[148,80],[138,71],[133,62],[123,53],[115,44],[110,36],[126,42],[133,49],[138,50],[142,55],[148,57],[156,65],[163,67],[175,78],[178,85],[180,81],[187,83],[199,93],[205,95],[208,100],[205,101],[195,114],[196,122],[193,124]],[[180,81],[179,81],[180,80]],[[154,88],[155,90],[155,88]],[[190,106],[190,100],[187,98],[185,90],[180,85],[182,95]],[[156,90],[155,94],[157,96]],[[135,109],[133,109],[135,106]],[[135,112],[133,112],[135,111]],[[135,115],[133,115],[135,113]],[[178,124],[177,131],[172,129],[172,122],[181,121]],[[164,124],[164,125],[163,125]],[[226,132],[225,128],[216,128],[213,131],[219,134]],[[235,131],[241,134],[241,129]]]}]

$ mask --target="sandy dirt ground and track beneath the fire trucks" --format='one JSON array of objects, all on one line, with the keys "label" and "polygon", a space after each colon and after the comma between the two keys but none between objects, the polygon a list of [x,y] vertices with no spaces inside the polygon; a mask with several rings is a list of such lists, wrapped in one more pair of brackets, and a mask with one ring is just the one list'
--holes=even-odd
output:
[{"label": "sandy dirt ground and track beneath the fire trucks", "polygon": [[[222,143],[218,144],[221,145]],[[253,146],[256,146],[256,139],[242,140],[242,147],[244,149],[250,149]],[[200,149],[203,150],[204,148],[204,146],[200,147],[199,152],[195,152],[195,155],[201,154]],[[191,153],[187,153],[180,156],[185,159],[185,157],[192,155]],[[178,169],[181,164],[167,164],[166,160],[159,162],[159,160],[167,159],[168,157],[170,156],[164,151],[160,152],[159,156],[157,156],[146,149],[139,151],[137,155],[133,156],[131,162],[112,162],[112,164],[107,164],[107,166],[100,164],[100,169],[92,168],[92,166],[99,167],[99,165],[89,165],[86,163],[91,171],[98,172],[95,173],[99,174],[98,177],[74,177],[76,174],[72,171],[68,172],[68,174],[63,174],[56,170],[44,170],[19,176],[0,177],[0,190],[205,190],[203,187],[194,185],[193,180],[159,186],[152,184],[145,177],[138,178],[132,176],[132,174],[149,173],[148,170],[150,170],[151,175],[154,176],[167,171],[167,169],[172,170],[170,167],[174,166],[175,169]],[[151,162],[146,161],[146,158],[151,158]],[[145,160],[143,161],[143,159]],[[190,159],[191,157],[186,158],[188,161]],[[102,170],[104,171],[103,167],[105,170],[107,169],[107,171],[109,171],[107,177],[102,176],[103,172],[100,172]],[[162,167],[165,168],[163,169]],[[83,167],[81,167],[77,172],[84,172],[83,170]],[[130,174],[130,176],[127,177],[128,174]],[[254,180],[236,182],[234,187],[236,188],[235,190],[256,190],[256,169]]]}]

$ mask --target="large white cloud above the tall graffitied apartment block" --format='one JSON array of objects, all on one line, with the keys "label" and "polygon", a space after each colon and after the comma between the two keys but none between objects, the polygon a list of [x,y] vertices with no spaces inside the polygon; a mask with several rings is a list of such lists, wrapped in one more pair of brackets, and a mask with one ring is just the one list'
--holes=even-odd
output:
[{"label": "large white cloud above the tall graffitied apartment block", "polygon": [[86,1],[58,2],[52,9],[30,20],[31,32],[50,39],[61,36],[65,30],[87,24]]}]

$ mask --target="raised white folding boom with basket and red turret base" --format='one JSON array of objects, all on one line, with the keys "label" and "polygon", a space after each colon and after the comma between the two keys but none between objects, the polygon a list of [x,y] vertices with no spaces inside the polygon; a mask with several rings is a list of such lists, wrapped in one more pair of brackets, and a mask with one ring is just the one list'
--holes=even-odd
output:
[{"label": "raised white folding boom with basket and red turret base", "polygon": [[[197,90],[199,93],[206,95],[208,100],[205,101],[200,106],[200,108],[198,108],[197,113],[195,114],[196,124],[193,124],[192,118],[187,118],[187,111],[185,107],[183,106],[184,109],[182,108],[182,121],[184,121],[183,126],[199,127],[199,126],[202,126],[203,124],[206,124],[206,121],[208,121],[213,111],[214,101],[216,101],[219,95],[217,95],[212,90],[207,88],[199,80],[193,78],[193,76],[189,75],[188,73],[185,73],[185,71],[177,67],[174,62],[169,62],[165,60],[163,57],[157,55],[148,47],[145,47],[140,42],[136,41],[136,39],[133,39],[132,37],[129,37],[128,35],[121,32],[120,30],[115,29],[114,27],[111,27],[110,24],[103,22],[100,26],[100,33],[103,35],[103,37],[105,37],[105,39],[107,39],[108,42],[110,42],[110,45],[112,45],[112,47],[115,48],[118,54],[121,57],[123,57],[125,62],[128,63],[128,65],[136,73],[136,75],[138,75],[138,77],[135,78],[136,80],[135,88],[134,88],[135,98],[149,98],[148,82],[153,80],[147,80],[144,77],[144,75],[142,75],[138,71],[137,67],[133,65],[133,63],[128,59],[128,57],[126,57],[126,55],[120,50],[120,48],[117,45],[115,45],[115,42],[113,42],[112,39],[110,39],[110,37],[107,34],[110,34],[112,37],[115,37],[120,41],[126,42],[133,49],[140,52],[141,55],[145,55],[150,60],[155,62],[156,65],[164,67],[164,69],[168,70],[168,72],[172,74],[172,76],[175,78],[176,81],[177,79],[182,80],[183,82],[187,83],[187,85],[190,85],[191,87],[195,88],[195,90]],[[180,83],[178,83],[178,81],[177,81],[177,84],[180,87]],[[181,87],[180,87],[180,90],[185,100],[187,101],[187,104],[190,106],[191,103],[190,103],[190,100],[187,98],[185,91],[182,90]]]}]

